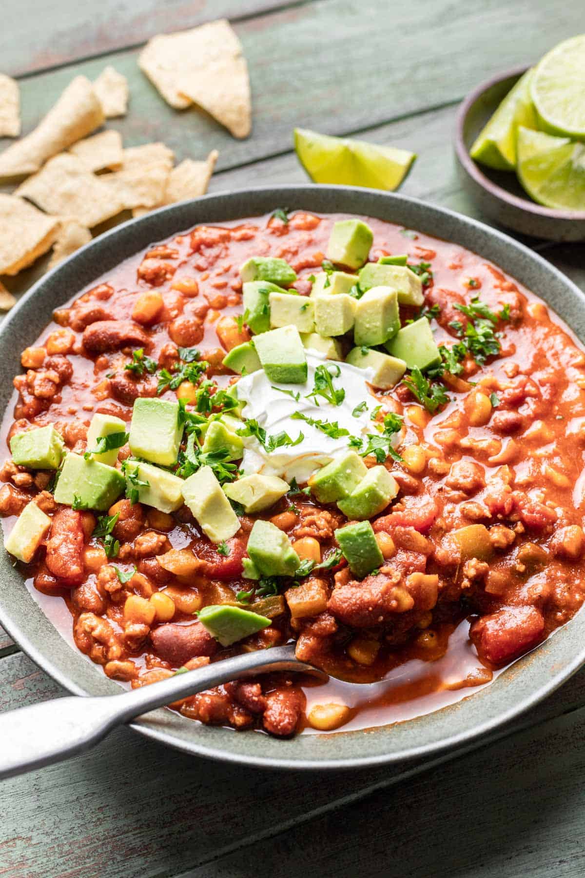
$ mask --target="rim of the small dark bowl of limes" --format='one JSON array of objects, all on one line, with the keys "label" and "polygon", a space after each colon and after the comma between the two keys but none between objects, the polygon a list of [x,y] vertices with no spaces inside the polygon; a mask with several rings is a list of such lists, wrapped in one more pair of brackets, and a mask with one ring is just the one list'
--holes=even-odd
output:
[{"label": "rim of the small dark bowl of limes", "polygon": [[[532,66],[533,65],[531,64],[522,64],[519,67],[510,68],[502,73],[498,73],[496,76],[491,76],[483,83],[477,85],[473,91],[470,91],[467,96],[464,97],[461,101],[459,110],[457,111],[457,118],[455,121],[455,154],[457,155],[462,167],[466,170],[468,176],[470,176],[478,186],[481,186],[482,189],[488,191],[493,198],[503,201],[504,204],[511,205],[518,210],[531,213],[534,216],[546,217],[546,219],[560,219],[563,221],[572,219],[585,222],[585,210],[564,211],[555,207],[545,207],[545,205],[537,204],[536,201],[531,201],[528,195],[526,195],[526,198],[520,198],[504,189],[503,186],[493,183],[489,177],[483,173],[480,165],[478,165],[477,162],[474,162],[467,151],[463,132],[467,115],[475,102],[479,100],[486,91],[493,88],[498,83],[503,83],[504,80],[511,79],[513,76],[522,76],[522,74]],[[503,173],[505,173],[505,171]]]}]

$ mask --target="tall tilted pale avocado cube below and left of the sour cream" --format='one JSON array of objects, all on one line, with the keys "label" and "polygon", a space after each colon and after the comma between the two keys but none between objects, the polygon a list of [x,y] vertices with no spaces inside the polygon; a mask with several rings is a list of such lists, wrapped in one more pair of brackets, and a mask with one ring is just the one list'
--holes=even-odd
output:
[{"label": "tall tilted pale avocado cube below and left of the sour cream", "polygon": [[202,466],[185,479],[182,496],[212,543],[222,543],[238,533],[238,516],[210,466]]}]

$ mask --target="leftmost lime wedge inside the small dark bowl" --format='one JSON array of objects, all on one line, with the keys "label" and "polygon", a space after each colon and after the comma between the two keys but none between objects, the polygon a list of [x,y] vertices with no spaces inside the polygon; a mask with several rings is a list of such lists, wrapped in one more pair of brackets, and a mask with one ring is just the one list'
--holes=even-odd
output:
[{"label": "leftmost lime wedge inside the small dark bowl", "polygon": [[469,151],[475,162],[496,170],[516,167],[517,126],[536,128],[536,113],[530,97],[531,70],[518,79]]}]

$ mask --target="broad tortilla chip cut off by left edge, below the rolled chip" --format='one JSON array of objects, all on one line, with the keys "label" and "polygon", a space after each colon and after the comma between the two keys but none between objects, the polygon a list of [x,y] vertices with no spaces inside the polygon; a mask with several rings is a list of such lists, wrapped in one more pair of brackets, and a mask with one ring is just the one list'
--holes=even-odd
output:
[{"label": "broad tortilla chip cut off by left edge, below the rolled chip", "polygon": [[0,194],[0,274],[15,275],[51,247],[59,228],[22,198]]}]

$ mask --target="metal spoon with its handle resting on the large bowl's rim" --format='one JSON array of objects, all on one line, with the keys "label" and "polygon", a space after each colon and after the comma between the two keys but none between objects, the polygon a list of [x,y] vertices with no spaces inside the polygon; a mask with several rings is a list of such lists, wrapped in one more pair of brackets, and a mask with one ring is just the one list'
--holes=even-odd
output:
[{"label": "metal spoon with its handle resting on the large bowl's rim", "polygon": [[251,672],[304,671],[325,674],[295,658],[295,646],[245,652],[150,686],[117,695],[70,695],[0,714],[0,780],[89,750],[109,731],[149,710],[239,680]]}]

